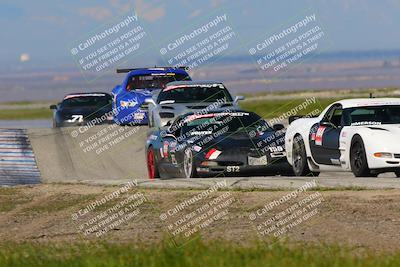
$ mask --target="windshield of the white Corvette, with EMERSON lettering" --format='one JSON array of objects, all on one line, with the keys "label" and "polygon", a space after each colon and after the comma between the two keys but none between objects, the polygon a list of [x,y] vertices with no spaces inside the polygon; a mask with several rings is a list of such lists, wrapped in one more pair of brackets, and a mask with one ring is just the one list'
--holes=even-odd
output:
[{"label": "windshield of the white Corvette, with EMERSON lettering", "polygon": [[344,125],[400,124],[400,106],[370,106],[345,109]]}]

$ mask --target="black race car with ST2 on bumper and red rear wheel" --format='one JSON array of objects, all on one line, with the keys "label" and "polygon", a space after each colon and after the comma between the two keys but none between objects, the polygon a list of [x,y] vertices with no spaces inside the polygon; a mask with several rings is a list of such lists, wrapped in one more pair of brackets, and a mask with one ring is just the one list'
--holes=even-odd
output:
[{"label": "black race car with ST2 on bumper and red rear wheel", "polygon": [[149,132],[149,178],[292,175],[283,128],[240,110],[181,115]]}]

